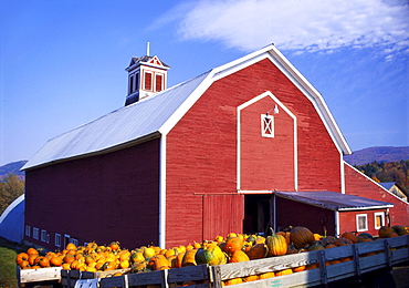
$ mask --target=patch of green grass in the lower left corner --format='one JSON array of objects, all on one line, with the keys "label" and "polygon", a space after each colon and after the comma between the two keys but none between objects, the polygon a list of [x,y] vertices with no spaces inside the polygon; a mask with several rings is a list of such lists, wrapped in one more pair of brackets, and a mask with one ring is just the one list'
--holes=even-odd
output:
[{"label": "patch of green grass in the lower left corner", "polygon": [[15,275],[15,256],[25,250],[27,246],[0,238],[0,288],[19,287]]}]

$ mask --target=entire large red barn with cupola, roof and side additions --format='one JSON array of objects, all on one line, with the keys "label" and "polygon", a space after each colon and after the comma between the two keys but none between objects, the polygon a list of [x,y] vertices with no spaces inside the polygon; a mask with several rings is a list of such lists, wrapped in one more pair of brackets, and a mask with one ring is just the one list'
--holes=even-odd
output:
[{"label": "entire large red barn with cupola, roof and side additions", "polygon": [[133,58],[126,105],[50,140],[25,169],[25,239],[134,248],[303,225],[376,233],[408,204],[343,161],[322,95],[265,47],[166,88]]}]

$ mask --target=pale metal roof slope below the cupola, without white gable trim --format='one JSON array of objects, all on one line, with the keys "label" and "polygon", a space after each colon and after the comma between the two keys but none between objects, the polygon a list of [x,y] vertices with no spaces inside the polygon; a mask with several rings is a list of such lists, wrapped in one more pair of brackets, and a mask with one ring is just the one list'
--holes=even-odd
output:
[{"label": "pale metal roof slope below the cupola, without white gable trim", "polygon": [[160,127],[209,72],[50,140],[22,169],[114,150],[149,135],[158,136]]}]

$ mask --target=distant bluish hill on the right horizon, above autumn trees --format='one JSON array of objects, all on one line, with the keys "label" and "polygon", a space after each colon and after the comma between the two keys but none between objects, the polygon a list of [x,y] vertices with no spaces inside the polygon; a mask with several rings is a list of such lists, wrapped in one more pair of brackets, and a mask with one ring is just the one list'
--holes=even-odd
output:
[{"label": "distant bluish hill on the right horizon, above autumn trees", "polygon": [[376,162],[395,162],[409,160],[409,146],[391,147],[378,146],[364,148],[354,152],[352,155],[344,156],[344,160],[350,165],[364,165]]}]

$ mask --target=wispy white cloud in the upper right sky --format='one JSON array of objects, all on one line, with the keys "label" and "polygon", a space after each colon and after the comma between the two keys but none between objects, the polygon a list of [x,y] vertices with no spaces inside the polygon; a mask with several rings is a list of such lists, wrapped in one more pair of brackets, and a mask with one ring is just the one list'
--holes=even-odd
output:
[{"label": "wispy white cloud in the upper right sky", "polygon": [[[183,13],[171,21],[179,21],[183,40],[221,41],[243,51],[275,43],[282,50],[296,51],[352,47],[407,52],[409,4],[401,2],[201,0],[180,6]],[[175,11],[180,9],[175,8],[174,16]]]}]

